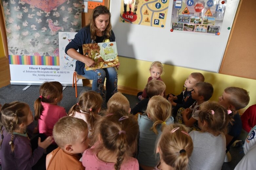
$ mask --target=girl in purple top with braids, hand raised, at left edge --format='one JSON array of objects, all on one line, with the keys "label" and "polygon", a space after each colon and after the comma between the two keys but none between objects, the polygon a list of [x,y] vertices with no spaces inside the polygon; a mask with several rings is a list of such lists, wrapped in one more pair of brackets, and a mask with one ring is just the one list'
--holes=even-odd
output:
[{"label": "girl in purple top with braids, hand raised, at left edge", "polygon": [[30,170],[42,157],[44,150],[53,142],[52,136],[31,149],[26,128],[33,122],[32,112],[28,104],[23,102],[6,103],[0,112],[1,142],[0,157],[3,169]]}]

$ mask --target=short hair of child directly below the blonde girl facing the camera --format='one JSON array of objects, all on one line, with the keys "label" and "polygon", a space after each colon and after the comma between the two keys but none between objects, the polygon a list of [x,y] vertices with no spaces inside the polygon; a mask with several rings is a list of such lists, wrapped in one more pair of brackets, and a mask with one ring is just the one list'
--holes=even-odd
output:
[{"label": "short hair of child directly below the blonde girl facing the camera", "polygon": [[166,85],[160,80],[151,80],[147,83],[145,90],[149,98],[162,94],[166,89]]}]

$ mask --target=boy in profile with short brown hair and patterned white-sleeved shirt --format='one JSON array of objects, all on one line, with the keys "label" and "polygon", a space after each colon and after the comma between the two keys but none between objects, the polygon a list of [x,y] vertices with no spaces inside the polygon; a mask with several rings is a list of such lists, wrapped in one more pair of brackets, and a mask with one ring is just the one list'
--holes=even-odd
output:
[{"label": "boy in profile with short brown hair and patterned white-sleeved shirt", "polygon": [[192,99],[196,100],[189,108],[182,112],[182,115],[177,114],[175,121],[177,123],[183,123],[188,127],[191,127],[194,131],[200,131],[198,127],[198,114],[200,112],[200,106],[208,101],[213,94],[213,87],[210,83],[199,82],[191,92]]}]

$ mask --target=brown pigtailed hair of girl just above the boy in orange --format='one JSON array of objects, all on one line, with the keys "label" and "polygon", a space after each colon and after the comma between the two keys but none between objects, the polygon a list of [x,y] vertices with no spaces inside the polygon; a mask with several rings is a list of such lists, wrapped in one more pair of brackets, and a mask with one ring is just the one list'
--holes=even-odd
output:
[{"label": "brown pigtailed hair of girl just above the boy in orange", "polygon": [[70,108],[68,115],[73,117],[75,116],[75,112],[81,111],[89,113],[90,127],[93,133],[95,122],[94,114],[98,114],[102,102],[103,100],[99,93],[95,91],[85,91],[79,96],[78,103]]}]

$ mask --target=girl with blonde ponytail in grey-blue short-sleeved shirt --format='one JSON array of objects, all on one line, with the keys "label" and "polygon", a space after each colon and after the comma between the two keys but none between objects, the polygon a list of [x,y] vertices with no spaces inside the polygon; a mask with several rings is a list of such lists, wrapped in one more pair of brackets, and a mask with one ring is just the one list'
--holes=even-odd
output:
[{"label": "girl with blonde ponytail in grey-blue short-sleeved shirt", "polygon": [[165,126],[172,124],[171,104],[162,96],[153,96],[148,102],[147,115],[139,115],[140,128],[138,161],[144,170],[154,168],[159,162],[155,157],[155,142]]}]

